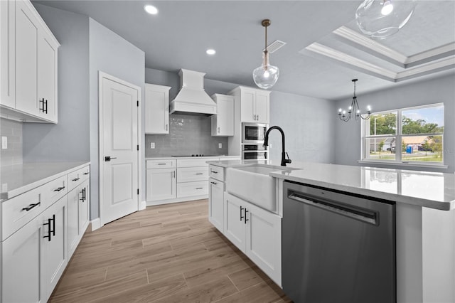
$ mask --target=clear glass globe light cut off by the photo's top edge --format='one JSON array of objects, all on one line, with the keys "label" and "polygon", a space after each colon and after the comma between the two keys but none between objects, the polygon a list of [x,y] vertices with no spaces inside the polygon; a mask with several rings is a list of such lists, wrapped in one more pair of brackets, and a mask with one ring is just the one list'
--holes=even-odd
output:
[{"label": "clear glass globe light cut off by the photo's top edge", "polygon": [[355,21],[365,35],[383,39],[405,26],[415,5],[415,0],[365,0],[355,11]]}]

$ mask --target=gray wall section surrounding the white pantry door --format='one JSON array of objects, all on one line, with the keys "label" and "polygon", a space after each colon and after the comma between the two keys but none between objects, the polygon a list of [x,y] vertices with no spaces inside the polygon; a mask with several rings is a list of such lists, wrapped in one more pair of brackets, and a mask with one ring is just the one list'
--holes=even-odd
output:
[{"label": "gray wall section surrounding the white pantry door", "polygon": [[[89,63],[90,63],[90,161],[91,161],[91,212],[90,218],[100,216],[98,190],[98,72],[102,71],[114,77],[141,87],[141,100],[144,100],[145,54],[124,38],[89,19]],[[142,132],[144,132],[144,102],[142,109]],[[144,136],[141,146],[144,146]],[[144,149],[141,150],[141,163],[145,164]],[[144,165],[143,165],[144,167]],[[145,201],[145,174],[142,171],[142,199]]]}]

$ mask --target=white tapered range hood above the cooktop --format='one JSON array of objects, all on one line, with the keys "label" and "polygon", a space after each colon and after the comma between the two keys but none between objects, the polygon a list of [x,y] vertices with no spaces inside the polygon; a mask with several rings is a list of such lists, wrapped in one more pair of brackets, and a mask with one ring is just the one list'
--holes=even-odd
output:
[{"label": "white tapered range hood above the cooktop", "polygon": [[183,70],[180,75],[181,89],[171,101],[170,113],[182,115],[215,115],[216,103],[204,90],[205,73]]}]

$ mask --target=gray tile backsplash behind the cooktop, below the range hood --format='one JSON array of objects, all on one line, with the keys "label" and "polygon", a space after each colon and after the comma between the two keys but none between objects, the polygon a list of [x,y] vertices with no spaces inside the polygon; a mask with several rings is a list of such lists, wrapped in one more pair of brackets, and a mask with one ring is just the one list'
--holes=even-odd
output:
[{"label": "gray tile backsplash behind the cooktop, below the range hood", "polygon": [[146,157],[228,154],[228,137],[212,137],[211,119],[204,116],[170,115],[169,134],[146,134],[145,144]]}]

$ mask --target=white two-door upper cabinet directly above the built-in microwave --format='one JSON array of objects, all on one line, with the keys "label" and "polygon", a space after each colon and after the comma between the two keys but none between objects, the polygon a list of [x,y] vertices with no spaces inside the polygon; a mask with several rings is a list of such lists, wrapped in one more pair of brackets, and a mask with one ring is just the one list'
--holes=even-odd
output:
[{"label": "white two-door upper cabinet directly above the built-in microwave", "polygon": [[240,122],[269,124],[269,91],[239,86],[230,95],[235,97],[235,106],[240,104]]}]

